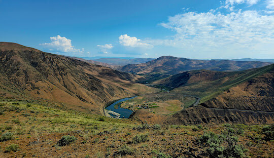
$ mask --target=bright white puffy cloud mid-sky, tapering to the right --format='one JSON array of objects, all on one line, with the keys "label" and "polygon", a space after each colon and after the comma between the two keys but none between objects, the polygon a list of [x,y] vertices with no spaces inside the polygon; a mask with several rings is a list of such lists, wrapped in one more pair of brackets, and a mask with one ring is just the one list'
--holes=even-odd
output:
[{"label": "bright white puffy cloud mid-sky, tapering to the right", "polygon": [[130,37],[127,34],[119,36],[119,43],[127,47],[153,48],[152,45],[142,42],[141,39],[138,39],[136,37]]}]

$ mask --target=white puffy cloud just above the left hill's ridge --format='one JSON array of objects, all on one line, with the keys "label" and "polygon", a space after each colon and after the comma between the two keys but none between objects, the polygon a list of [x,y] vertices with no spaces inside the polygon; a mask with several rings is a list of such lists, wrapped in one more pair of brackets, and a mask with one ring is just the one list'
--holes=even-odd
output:
[{"label": "white puffy cloud just above the left hill's ridge", "polygon": [[61,37],[60,35],[50,37],[51,43],[40,44],[50,51],[57,52],[68,52],[68,53],[83,53],[84,49],[75,49],[72,46],[71,39],[67,39],[66,37]]}]

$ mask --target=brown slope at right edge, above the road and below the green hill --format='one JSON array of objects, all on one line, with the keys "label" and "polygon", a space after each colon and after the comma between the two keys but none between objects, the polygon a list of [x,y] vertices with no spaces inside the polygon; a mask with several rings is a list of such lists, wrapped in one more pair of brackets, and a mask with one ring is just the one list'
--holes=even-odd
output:
[{"label": "brown slope at right edge, above the road and below the green hill", "polygon": [[274,71],[232,87],[201,105],[209,108],[274,111]]}]

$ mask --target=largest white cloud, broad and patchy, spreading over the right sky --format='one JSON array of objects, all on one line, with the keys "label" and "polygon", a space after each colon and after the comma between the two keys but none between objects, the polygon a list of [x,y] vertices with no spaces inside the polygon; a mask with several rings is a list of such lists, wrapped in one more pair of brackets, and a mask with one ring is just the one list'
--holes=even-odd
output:
[{"label": "largest white cloud, broad and patchy, spreading over the right sky", "polygon": [[[169,17],[161,25],[176,32],[174,39],[165,39],[162,44],[189,51],[221,52],[232,48],[262,51],[274,46],[274,16],[257,11],[188,12]],[[160,44],[159,40],[153,44],[157,43]]]}]

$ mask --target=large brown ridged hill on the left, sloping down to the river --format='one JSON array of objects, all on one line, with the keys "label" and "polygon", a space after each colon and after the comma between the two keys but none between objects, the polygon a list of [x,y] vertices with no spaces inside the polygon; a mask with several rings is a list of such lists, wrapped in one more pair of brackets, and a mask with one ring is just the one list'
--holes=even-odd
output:
[{"label": "large brown ridged hill on the left, sloping down to the river", "polygon": [[1,97],[44,99],[85,112],[152,90],[133,83],[140,76],[14,43],[0,43],[0,72]]}]

